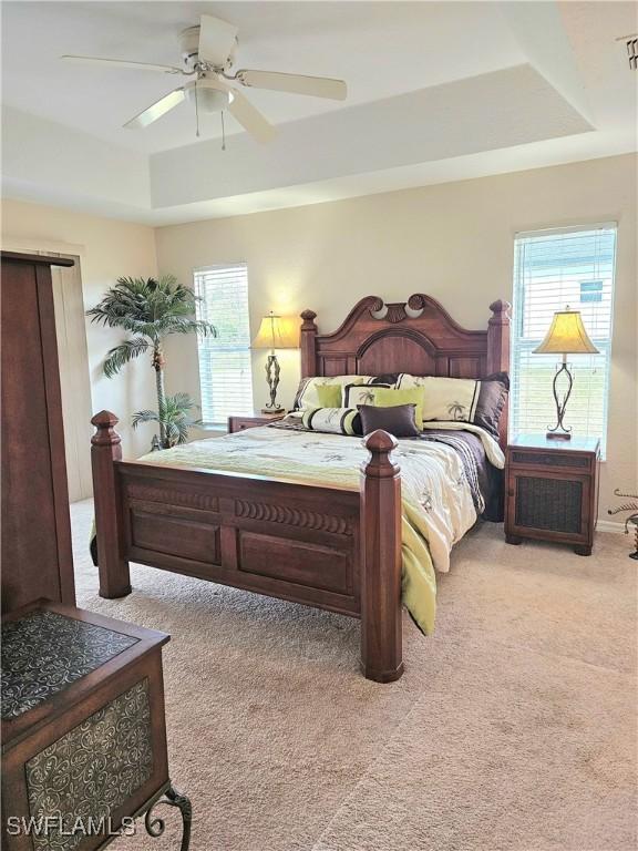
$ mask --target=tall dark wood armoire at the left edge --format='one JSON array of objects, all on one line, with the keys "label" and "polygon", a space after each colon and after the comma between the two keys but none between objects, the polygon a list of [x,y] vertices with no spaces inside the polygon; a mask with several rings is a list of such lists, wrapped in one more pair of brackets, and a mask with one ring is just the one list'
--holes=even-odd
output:
[{"label": "tall dark wood armoire at the left edge", "polygon": [[75,603],[51,266],[2,252],[2,612]]}]

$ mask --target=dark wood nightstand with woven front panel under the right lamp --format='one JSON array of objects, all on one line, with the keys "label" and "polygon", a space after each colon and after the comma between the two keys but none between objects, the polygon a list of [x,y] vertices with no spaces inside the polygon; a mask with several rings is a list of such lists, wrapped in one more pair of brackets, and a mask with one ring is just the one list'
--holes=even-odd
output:
[{"label": "dark wood nightstand with woven front panel under the right lamp", "polygon": [[598,514],[598,438],[519,434],[505,452],[505,540],[572,544],[591,555]]}]

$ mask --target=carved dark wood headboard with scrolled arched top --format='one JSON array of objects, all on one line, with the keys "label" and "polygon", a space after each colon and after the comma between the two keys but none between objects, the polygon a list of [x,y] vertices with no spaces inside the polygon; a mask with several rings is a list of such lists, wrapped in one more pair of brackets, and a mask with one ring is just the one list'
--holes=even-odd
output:
[{"label": "carved dark wood headboard with scrolled arched top", "polygon": [[[510,369],[510,304],[494,301],[484,331],[469,331],[422,293],[384,305],[362,298],[333,334],[319,335],[313,310],[301,314],[301,377],[410,372],[485,378]],[[506,432],[506,413],[502,418]],[[504,432],[504,433],[505,433]]]}]

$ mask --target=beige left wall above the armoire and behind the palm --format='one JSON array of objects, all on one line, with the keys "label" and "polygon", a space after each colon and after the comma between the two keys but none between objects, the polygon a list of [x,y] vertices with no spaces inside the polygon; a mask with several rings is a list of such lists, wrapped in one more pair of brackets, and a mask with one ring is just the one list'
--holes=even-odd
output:
[{"label": "beige left wall above the armoire and behind the palm", "polygon": [[[93,307],[117,277],[157,273],[153,228],[39,204],[2,202],[2,247],[80,255],[85,309]],[[117,428],[125,455],[135,457],[147,450],[153,429],[146,426],[133,432],[131,413],[156,408],[155,383],[151,367],[142,360],[111,380],[104,378],[104,355],[122,337],[121,331],[86,322],[93,411],[106,408],[121,418]]]}]

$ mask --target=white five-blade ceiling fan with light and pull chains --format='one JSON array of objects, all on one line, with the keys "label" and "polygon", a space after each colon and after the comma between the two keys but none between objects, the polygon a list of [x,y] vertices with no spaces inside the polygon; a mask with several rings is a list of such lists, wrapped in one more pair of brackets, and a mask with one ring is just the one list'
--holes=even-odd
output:
[{"label": "white five-blade ceiling fan with light and pull chains", "polygon": [[270,89],[277,92],[308,94],[336,101],[346,99],[347,86],[342,80],[245,69],[231,73],[238,43],[237,32],[237,27],[231,23],[210,14],[203,14],[198,27],[189,27],[179,37],[182,68],[69,54],[61,57],[61,59],[68,62],[128,68],[140,71],[160,71],[166,74],[192,78],[184,85],[165,94],[164,98],[127,121],[124,126],[131,129],[147,127],[148,124],[157,121],[162,115],[187,100],[195,105],[197,135],[199,135],[199,112],[220,112],[222,122],[224,122],[223,111],[228,110],[251,136],[259,142],[269,142],[276,134],[275,127],[253,106],[239,89],[230,85],[230,83],[247,89]]}]

